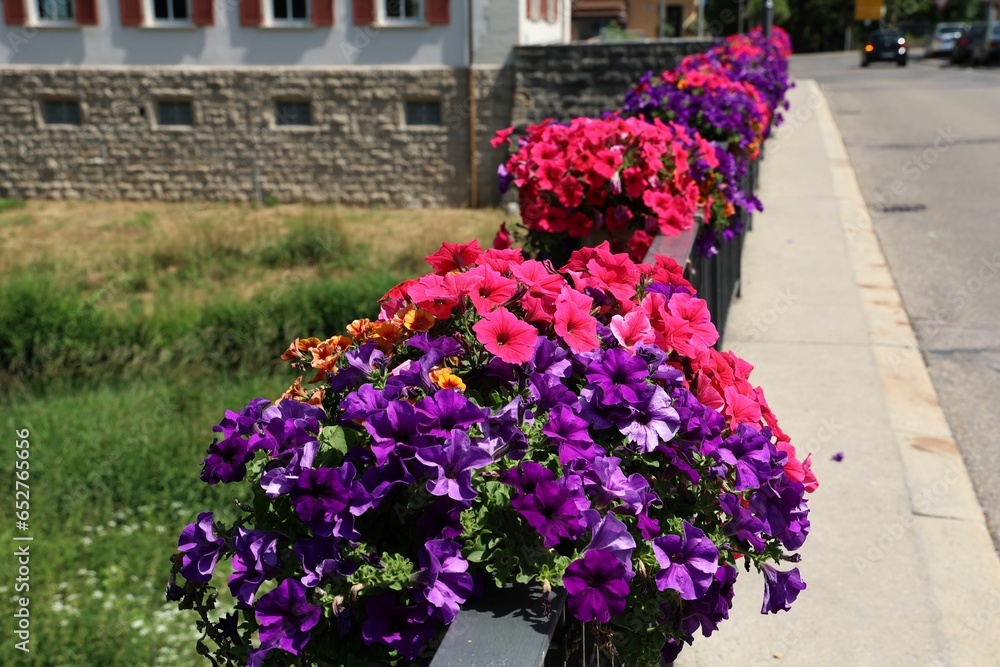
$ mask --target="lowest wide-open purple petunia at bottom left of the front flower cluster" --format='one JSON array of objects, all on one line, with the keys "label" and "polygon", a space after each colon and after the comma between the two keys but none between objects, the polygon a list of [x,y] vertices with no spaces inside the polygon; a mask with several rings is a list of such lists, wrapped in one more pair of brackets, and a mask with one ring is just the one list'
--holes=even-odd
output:
[{"label": "lowest wide-open purple petunia at bottom left of the front flower cluster", "polygon": [[306,599],[306,588],[294,579],[285,579],[270,593],[262,595],[255,615],[260,623],[260,643],[298,655],[309,643],[309,631],[322,616],[319,605]]}]

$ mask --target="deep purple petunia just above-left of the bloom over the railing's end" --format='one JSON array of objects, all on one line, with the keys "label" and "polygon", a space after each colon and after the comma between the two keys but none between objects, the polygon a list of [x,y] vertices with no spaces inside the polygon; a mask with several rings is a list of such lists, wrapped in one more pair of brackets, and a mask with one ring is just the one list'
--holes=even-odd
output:
[{"label": "deep purple petunia just above-left of the bloom over the railing's end", "polygon": [[590,503],[582,489],[574,487],[571,480],[575,479],[540,481],[531,493],[511,501],[511,506],[542,536],[546,547],[554,547],[563,539],[575,540],[586,528],[582,512],[590,509]]}]

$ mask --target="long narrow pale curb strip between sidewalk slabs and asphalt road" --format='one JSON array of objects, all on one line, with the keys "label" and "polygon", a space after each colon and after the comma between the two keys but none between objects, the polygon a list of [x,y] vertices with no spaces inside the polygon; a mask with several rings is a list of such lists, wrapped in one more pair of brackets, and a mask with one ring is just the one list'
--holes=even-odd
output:
[{"label": "long narrow pale curb strip between sidewalk slabs and asphalt road", "polygon": [[840,206],[869,345],[909,491],[909,529],[921,549],[947,644],[928,665],[989,665],[1000,655],[1000,559],[962,455],[938,402],[889,272],[840,131],[815,80],[797,81],[815,110]]}]

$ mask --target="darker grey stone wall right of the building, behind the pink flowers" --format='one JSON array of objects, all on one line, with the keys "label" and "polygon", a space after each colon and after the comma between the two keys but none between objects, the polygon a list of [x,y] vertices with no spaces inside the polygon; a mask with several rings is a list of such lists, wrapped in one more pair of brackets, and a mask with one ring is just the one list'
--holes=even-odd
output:
[{"label": "darker grey stone wall right of the building, behind the pink flowers", "polygon": [[625,92],[647,71],[670,69],[712,43],[705,38],[516,47],[513,122],[600,116],[621,106]]}]

